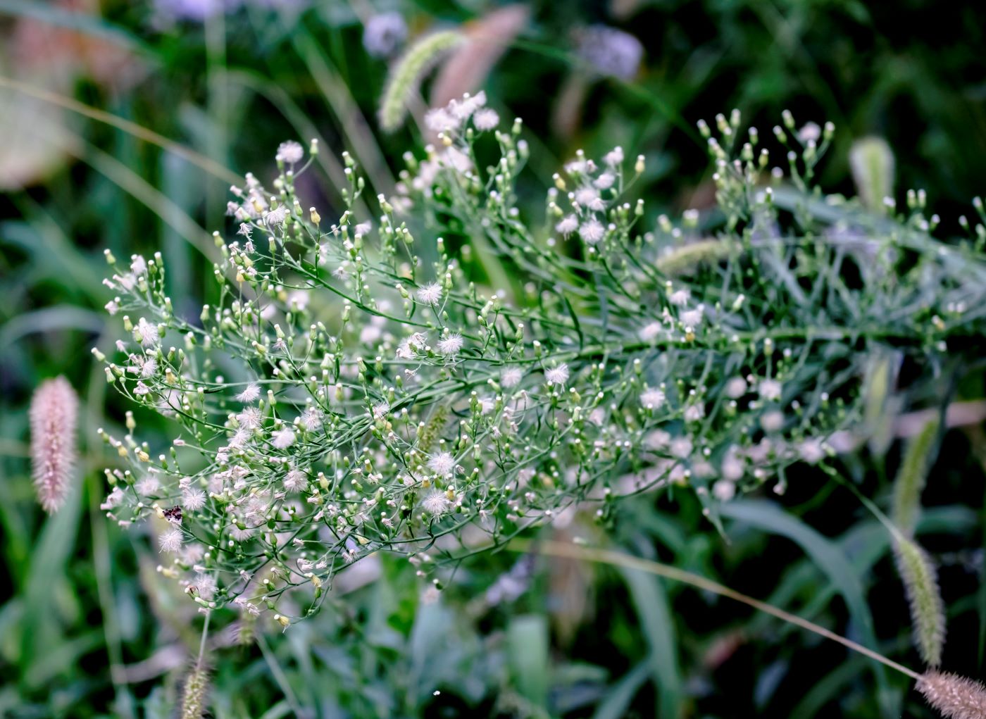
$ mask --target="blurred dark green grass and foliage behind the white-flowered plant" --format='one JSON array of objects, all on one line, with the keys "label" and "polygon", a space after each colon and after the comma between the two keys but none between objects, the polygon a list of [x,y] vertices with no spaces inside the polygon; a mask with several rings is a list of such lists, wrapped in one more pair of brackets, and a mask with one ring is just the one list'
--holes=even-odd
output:
[{"label": "blurred dark green grass and foliage behind the white-flowered plant", "polygon": [[[391,35],[365,37],[385,13],[397,14]],[[531,211],[577,149],[614,145],[646,156],[637,191],[653,216],[709,206],[694,123],[731,108],[763,137],[783,108],[799,124],[835,122],[821,177],[835,191],[853,191],[852,141],[884,137],[898,198],[926,188],[945,235],[983,188],[977,3],[0,0],[3,716],[171,716],[195,613],[156,575],[147,539],[99,511],[112,459],[95,430],[128,408],[90,355],[119,331],[103,310],[103,251],[162,252],[176,309],[197,316],[210,234],[231,232],[228,187],[245,172],[269,177],[279,142],[320,139],[323,172],[304,191],[323,216],[338,214],[343,150],[372,191],[389,193],[420,139],[414,122],[385,135],[376,120],[401,23],[410,41],[453,27],[483,38],[438,68],[415,111],[485,89],[502,115],[522,116]],[[631,37],[589,51],[587,29],[600,25]],[[58,374],[83,399],[83,453],[76,495],[45,519],[27,405]],[[964,392],[982,396],[975,383]],[[163,420],[138,422],[163,443]],[[984,447],[981,428],[946,434],[919,529],[950,608],[946,667],[971,677],[983,674],[986,638]],[[880,502],[898,455],[895,444],[842,468]],[[784,497],[730,505],[727,538],[683,495],[625,503],[608,533],[575,516],[548,534],[671,562],[864,643],[875,636],[916,666],[885,532],[820,472],[797,479]],[[906,683],[837,645],[635,571],[482,555],[437,602],[406,562],[380,557],[363,571],[336,588],[330,611],[284,635],[264,625],[246,647],[216,635],[212,713],[931,716]]]}]

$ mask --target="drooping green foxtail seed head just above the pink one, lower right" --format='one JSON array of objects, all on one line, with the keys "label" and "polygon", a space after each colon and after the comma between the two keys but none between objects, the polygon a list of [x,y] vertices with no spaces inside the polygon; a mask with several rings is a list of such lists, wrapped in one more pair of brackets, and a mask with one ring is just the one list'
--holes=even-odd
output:
[{"label": "drooping green foxtail seed head just above the pink one, lower right", "polygon": [[945,646],[945,606],[935,566],[910,539],[898,539],[895,549],[897,571],[904,581],[914,624],[914,643],[925,664],[938,667]]}]

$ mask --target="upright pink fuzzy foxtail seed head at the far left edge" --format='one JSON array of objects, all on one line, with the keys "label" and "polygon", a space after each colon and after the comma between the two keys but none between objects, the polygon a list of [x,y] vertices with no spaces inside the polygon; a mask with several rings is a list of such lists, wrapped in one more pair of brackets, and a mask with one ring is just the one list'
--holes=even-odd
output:
[{"label": "upright pink fuzzy foxtail seed head at the far left edge", "polygon": [[76,464],[79,399],[64,377],[45,380],[31,400],[31,457],[37,501],[45,512],[61,508]]}]

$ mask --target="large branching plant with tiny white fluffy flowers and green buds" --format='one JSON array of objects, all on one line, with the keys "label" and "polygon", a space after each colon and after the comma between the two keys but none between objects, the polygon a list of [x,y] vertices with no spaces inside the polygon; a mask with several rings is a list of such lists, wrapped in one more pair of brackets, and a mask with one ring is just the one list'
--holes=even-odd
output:
[{"label": "large branching plant with tiny white fluffy flowers and green buds", "polygon": [[717,523],[864,431],[875,356],[927,380],[981,334],[986,232],[933,239],[923,193],[880,214],[822,194],[831,125],[785,117],[785,174],[739,113],[701,124],[718,210],[651,223],[642,157],[579,153],[529,217],[520,120],[480,93],[426,122],[438,142],[406,156],[376,217],[348,155],[346,210],[308,208],[296,181],[317,146],[282,145],[269,188],[232,188],[236,237],[215,235],[198,317],[175,312],[160,254],[107,253],[129,334],[97,352],[106,379],[180,436],[161,453],[132,416],[103,432],[122,458],[103,506],[124,526],[157,516],[161,571],[205,610],[287,627],[385,550],[441,587],[470,553],[576,507],[609,523],[648,491],[693,492]]}]

